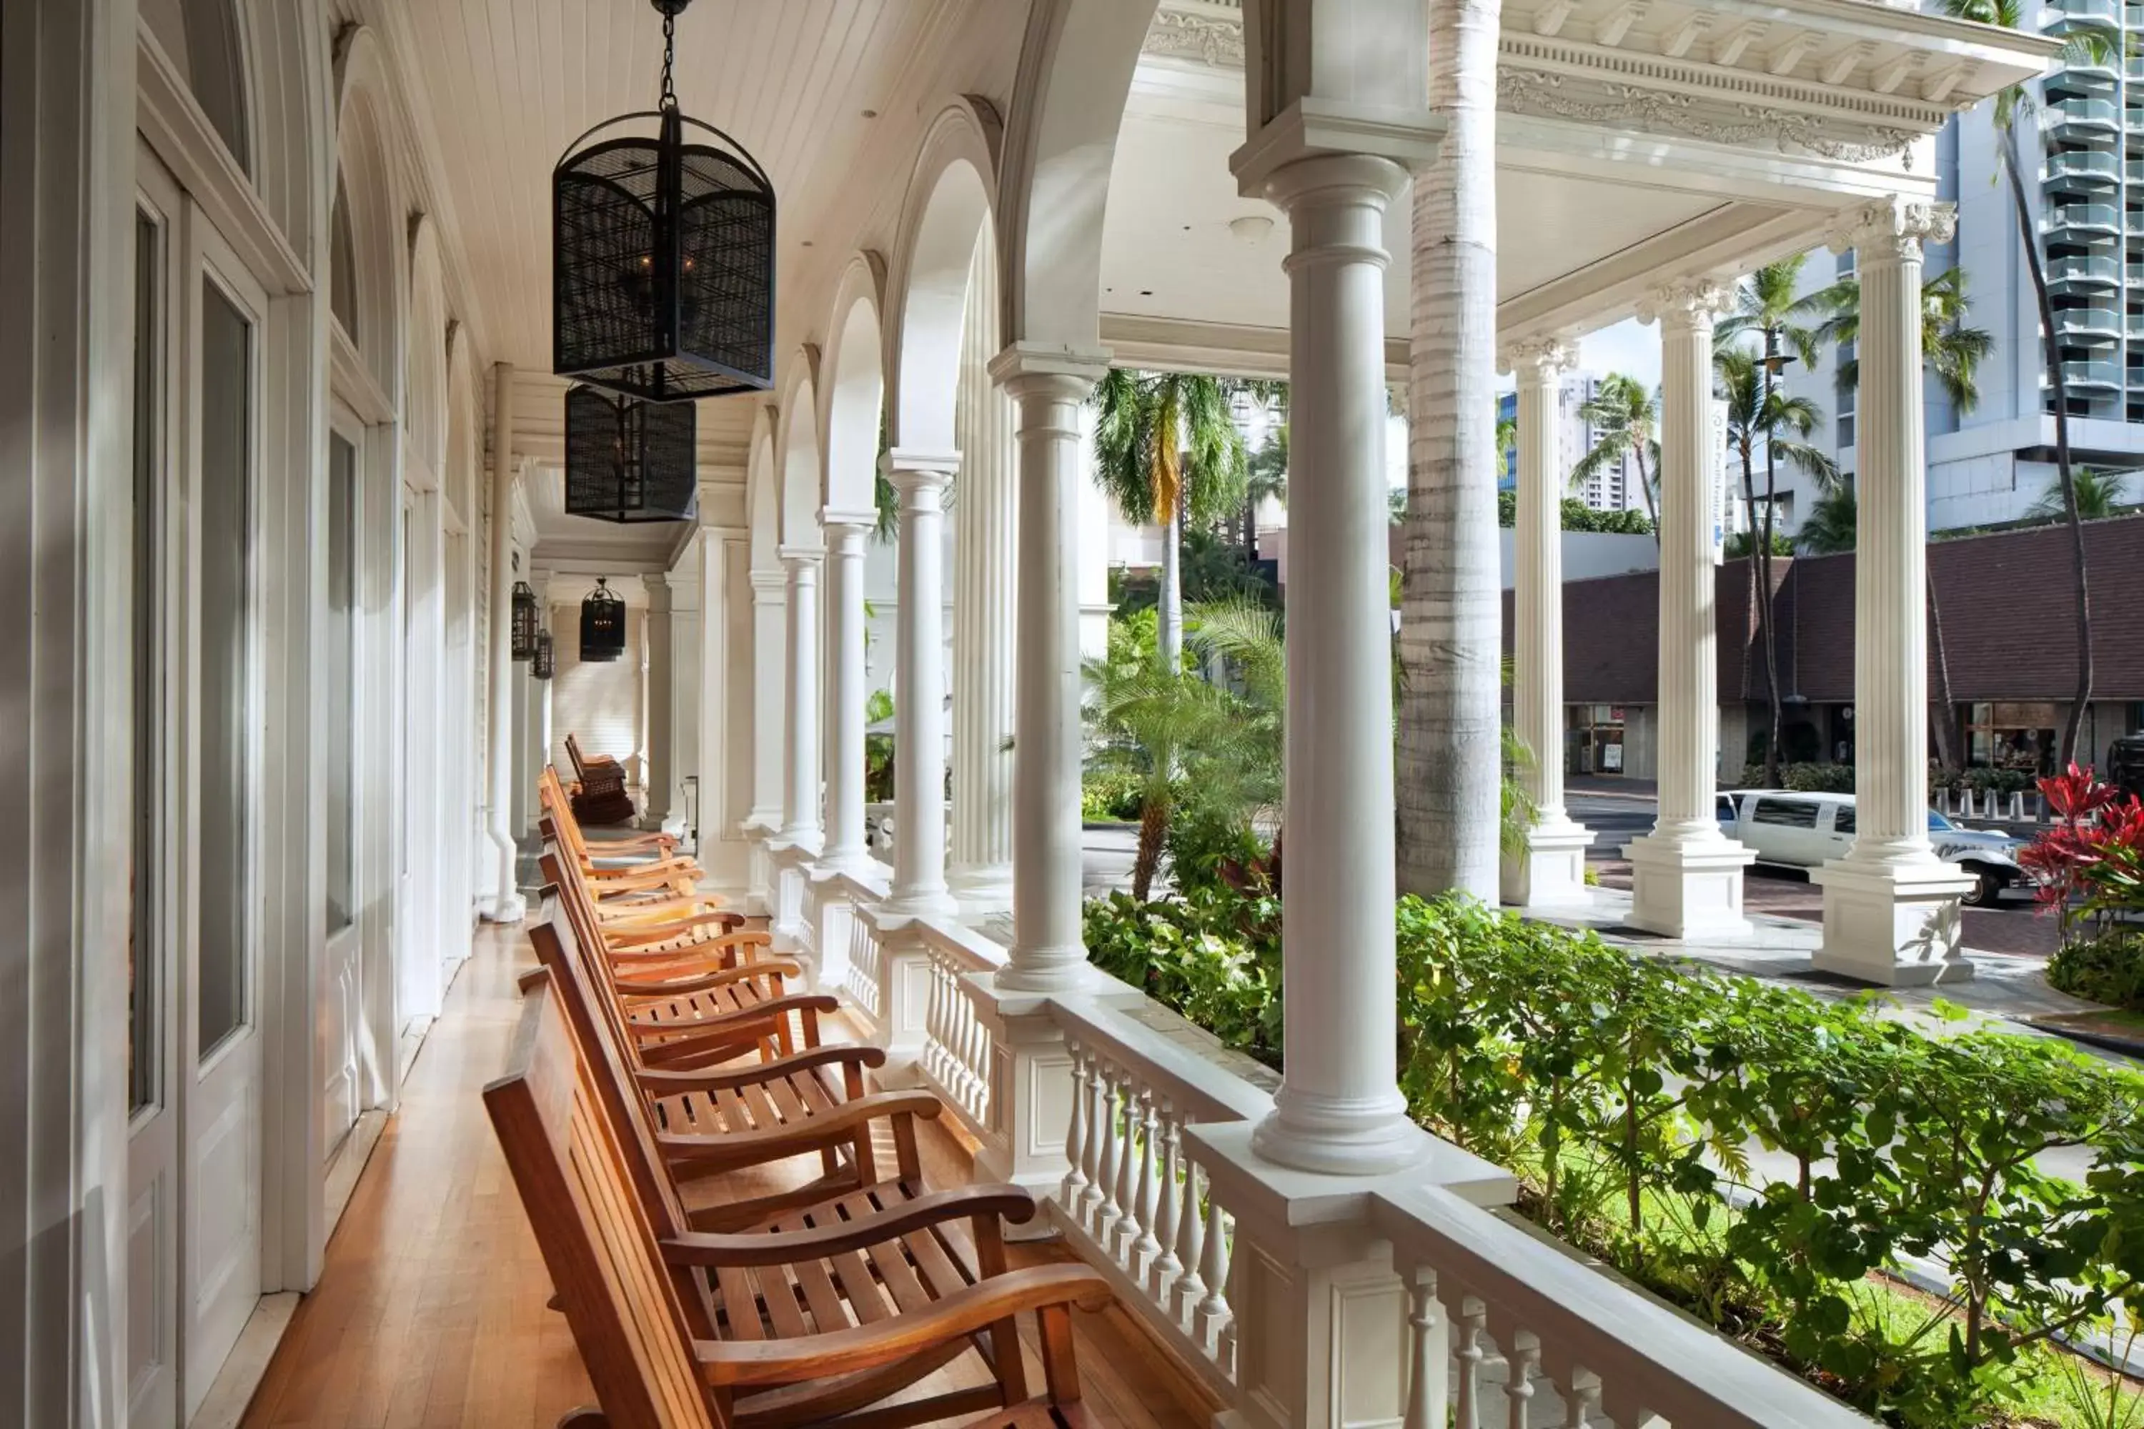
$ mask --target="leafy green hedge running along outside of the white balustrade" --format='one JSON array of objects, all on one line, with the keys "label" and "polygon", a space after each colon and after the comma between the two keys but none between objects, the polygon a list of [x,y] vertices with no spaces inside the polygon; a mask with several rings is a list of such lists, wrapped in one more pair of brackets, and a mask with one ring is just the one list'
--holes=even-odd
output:
[{"label": "leafy green hedge running along outside of the white balustrade", "polygon": [[[2144,1078],[1464,900],[1400,900],[1396,932],[1413,1116],[1518,1172],[1531,1219],[1857,1408],[2015,1423],[2045,1341],[2144,1309]],[[1278,900],[1224,883],[1087,906],[1096,964],[1269,1065],[1278,934]],[[1790,1170],[1756,1174],[1756,1148]],[[1938,1253],[1949,1298],[1872,1279]]]}]

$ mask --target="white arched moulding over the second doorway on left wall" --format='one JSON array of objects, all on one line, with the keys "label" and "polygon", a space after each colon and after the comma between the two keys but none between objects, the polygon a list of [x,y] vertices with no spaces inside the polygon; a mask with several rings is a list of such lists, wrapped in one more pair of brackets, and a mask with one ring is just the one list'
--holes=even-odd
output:
[{"label": "white arched moulding over the second doorway on left wall", "polygon": [[334,51],[334,165],[349,195],[349,229],[358,279],[358,330],[349,334],[379,390],[394,401],[401,371],[397,324],[405,306],[403,234],[407,212],[394,180],[386,49],[358,26]]}]

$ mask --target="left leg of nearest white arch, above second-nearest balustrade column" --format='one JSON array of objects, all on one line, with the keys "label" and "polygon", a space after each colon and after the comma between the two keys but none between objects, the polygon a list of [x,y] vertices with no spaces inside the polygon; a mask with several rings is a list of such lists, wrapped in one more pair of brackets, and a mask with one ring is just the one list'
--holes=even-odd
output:
[{"label": "left leg of nearest white arch, above second-nearest balustrade column", "polygon": [[[1108,174],[1156,9],[1042,0],[1029,11],[997,214],[1008,343],[1102,345]],[[1248,11],[1246,26],[1256,21]]]}]

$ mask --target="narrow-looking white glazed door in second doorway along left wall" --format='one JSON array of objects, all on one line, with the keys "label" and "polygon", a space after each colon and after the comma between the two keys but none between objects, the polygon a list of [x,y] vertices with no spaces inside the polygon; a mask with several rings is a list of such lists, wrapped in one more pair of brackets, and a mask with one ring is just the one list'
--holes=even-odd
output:
[{"label": "narrow-looking white glazed door in second doorway along left wall", "polygon": [[332,1159],[362,1110],[364,1080],[364,936],[358,928],[358,482],[364,471],[364,426],[337,407],[328,431],[328,621],[326,621],[326,767],[328,767],[328,966],[322,1018],[322,1146]]}]

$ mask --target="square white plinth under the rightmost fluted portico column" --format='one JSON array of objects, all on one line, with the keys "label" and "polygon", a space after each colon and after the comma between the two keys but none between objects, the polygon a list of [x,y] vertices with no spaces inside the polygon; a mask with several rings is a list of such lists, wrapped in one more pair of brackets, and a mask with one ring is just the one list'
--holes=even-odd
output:
[{"label": "square white plinth under the rightmost fluted portico column", "polygon": [[1972,874],[1936,859],[1855,863],[1833,859],[1810,872],[1825,889],[1825,943],[1816,968],[1880,988],[1962,983],[1972,964],[1957,947],[1957,900]]}]

